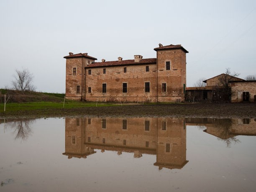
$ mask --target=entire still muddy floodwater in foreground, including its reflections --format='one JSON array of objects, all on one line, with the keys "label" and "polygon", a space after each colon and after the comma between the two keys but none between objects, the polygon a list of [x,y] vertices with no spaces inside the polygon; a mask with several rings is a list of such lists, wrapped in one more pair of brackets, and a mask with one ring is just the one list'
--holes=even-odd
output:
[{"label": "entire still muddy floodwater in foreground, including its reflections", "polygon": [[0,191],[255,191],[256,120],[0,120]]}]

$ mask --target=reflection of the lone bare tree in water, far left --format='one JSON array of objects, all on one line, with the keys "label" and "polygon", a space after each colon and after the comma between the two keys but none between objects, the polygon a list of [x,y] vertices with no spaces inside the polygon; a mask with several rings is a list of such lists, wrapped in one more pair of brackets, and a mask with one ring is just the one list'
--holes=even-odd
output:
[{"label": "reflection of the lone bare tree in water, far left", "polygon": [[32,133],[31,124],[33,124],[34,121],[34,119],[15,120],[6,123],[6,126],[14,128],[14,133],[16,133],[15,139],[20,138],[21,140],[26,140]]}]

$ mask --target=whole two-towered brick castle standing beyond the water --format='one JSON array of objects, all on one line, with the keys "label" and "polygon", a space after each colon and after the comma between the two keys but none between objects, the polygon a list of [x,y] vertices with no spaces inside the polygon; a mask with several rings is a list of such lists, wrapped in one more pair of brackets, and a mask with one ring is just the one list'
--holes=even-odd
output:
[{"label": "whole two-towered brick castle standing beyond the water", "polygon": [[182,102],[186,53],[181,45],[154,49],[156,58],[95,62],[87,53],[66,59],[66,98],[99,102]]}]

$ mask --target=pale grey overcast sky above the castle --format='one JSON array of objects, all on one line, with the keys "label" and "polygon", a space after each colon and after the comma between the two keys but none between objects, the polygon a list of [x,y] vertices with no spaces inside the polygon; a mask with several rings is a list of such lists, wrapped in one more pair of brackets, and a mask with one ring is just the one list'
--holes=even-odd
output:
[{"label": "pale grey overcast sky above the castle", "polygon": [[159,43],[189,51],[187,87],[256,75],[256,0],[0,0],[0,88],[28,68],[37,91],[64,93],[70,51],[156,58]]}]

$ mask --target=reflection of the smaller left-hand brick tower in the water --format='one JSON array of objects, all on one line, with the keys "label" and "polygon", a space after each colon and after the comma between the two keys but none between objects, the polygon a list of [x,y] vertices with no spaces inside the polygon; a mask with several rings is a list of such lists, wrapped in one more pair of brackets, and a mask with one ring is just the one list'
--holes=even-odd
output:
[{"label": "reflection of the smaller left-hand brick tower in the water", "polygon": [[69,159],[72,157],[86,158],[96,153],[92,148],[84,145],[84,118],[66,118],[65,120],[65,153]]}]

